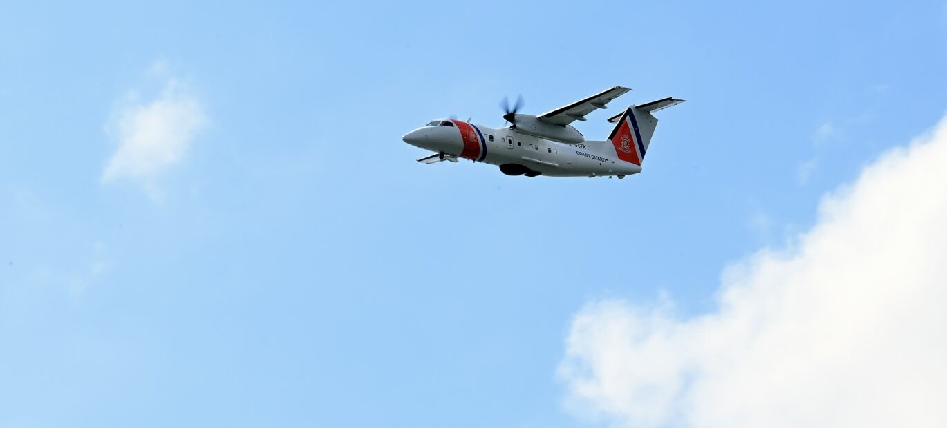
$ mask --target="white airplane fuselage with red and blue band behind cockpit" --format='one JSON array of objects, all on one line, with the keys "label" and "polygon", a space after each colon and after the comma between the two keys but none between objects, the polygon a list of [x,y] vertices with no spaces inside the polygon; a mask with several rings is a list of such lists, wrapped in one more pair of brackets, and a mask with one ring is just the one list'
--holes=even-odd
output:
[{"label": "white airplane fuselage with red and blue band behind cockpit", "polygon": [[408,132],[404,142],[436,153],[499,165],[509,175],[620,178],[641,172],[640,166],[619,160],[609,141],[566,144],[515,128],[487,128],[456,119],[431,124]]}]

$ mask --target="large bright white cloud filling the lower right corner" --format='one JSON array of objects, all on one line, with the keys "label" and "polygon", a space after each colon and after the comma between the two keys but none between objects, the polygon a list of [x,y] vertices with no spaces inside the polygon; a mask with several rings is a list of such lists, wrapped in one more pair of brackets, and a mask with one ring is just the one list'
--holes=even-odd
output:
[{"label": "large bright white cloud filling the lower right corner", "polygon": [[824,197],[792,248],[724,272],[718,308],[588,304],[559,374],[616,426],[947,426],[947,118]]}]

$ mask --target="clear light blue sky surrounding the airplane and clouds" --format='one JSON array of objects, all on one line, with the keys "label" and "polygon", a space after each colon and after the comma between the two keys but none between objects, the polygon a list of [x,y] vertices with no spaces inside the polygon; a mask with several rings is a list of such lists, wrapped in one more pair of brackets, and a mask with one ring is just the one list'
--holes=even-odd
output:
[{"label": "clear light blue sky surrounding the airplane and clouds", "polygon": [[[710,311],[947,107],[942,2],[3,10],[2,426],[594,425],[556,376],[586,302]],[[615,85],[688,100],[625,180],[401,141]],[[203,117],[180,156],[103,176],[162,99]]]}]

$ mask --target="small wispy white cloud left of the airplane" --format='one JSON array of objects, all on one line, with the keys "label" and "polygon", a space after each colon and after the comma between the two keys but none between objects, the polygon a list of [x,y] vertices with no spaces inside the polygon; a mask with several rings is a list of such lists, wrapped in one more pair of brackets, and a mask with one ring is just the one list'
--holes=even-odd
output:
[{"label": "small wispy white cloud left of the airplane", "polygon": [[102,180],[129,178],[147,183],[184,159],[205,123],[197,98],[170,80],[151,103],[133,103],[117,111],[116,124],[109,128],[117,134],[118,147]]}]

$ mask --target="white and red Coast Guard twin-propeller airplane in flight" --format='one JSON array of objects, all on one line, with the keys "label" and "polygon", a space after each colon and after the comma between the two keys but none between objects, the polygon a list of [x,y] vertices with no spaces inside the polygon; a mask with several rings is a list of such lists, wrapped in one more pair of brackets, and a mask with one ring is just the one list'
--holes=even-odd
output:
[{"label": "white and red Coast Guard twin-propeller airplane in flight", "polygon": [[492,163],[509,176],[609,177],[624,179],[641,172],[657,118],[652,112],[683,103],[662,98],[631,106],[608,119],[616,124],[604,141],[587,141],[570,125],[631,91],[616,86],[538,116],[519,111],[523,98],[510,108],[504,100],[503,118],[509,128],[488,128],[456,119],[438,119],[402,137],[405,143],[435,152],[420,163],[457,162],[457,158]]}]

